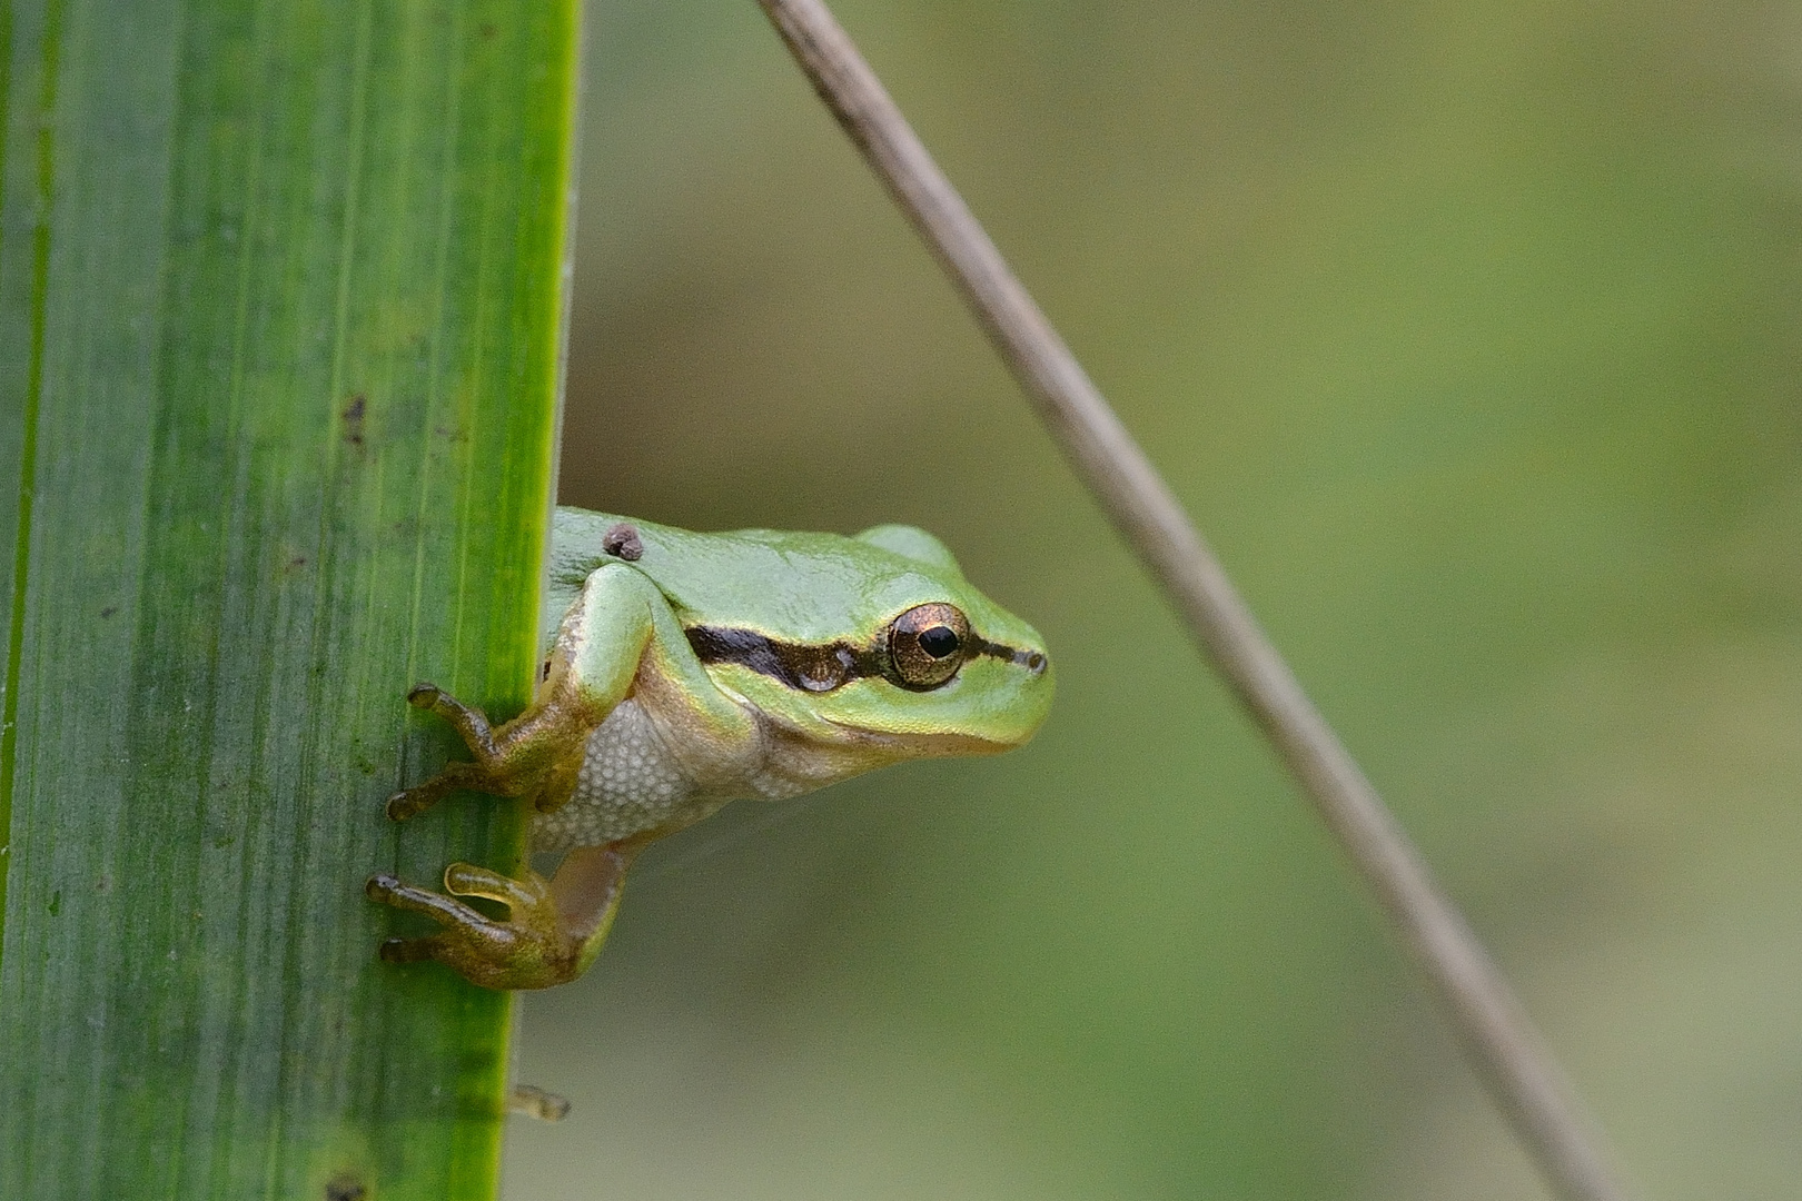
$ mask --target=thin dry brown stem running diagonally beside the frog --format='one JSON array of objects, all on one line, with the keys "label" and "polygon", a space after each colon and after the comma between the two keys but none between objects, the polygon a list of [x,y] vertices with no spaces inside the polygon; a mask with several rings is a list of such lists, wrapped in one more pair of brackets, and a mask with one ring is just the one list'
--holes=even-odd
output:
[{"label": "thin dry brown stem running diagonally beside the frog", "polygon": [[1002,259],[822,0],[759,0],[820,99],[964,292],[1103,510],[1188,618],[1377,891],[1497,1104],[1566,1201],[1627,1201],[1613,1156],[1514,990],[1303,693],[1169,486]]}]

